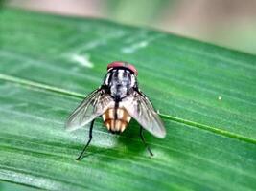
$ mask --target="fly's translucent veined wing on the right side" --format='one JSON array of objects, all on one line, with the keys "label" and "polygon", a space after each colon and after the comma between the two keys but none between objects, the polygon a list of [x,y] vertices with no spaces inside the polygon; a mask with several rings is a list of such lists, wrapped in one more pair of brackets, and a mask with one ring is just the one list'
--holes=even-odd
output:
[{"label": "fly's translucent veined wing on the right side", "polygon": [[158,138],[166,136],[161,118],[153,109],[150,100],[141,92],[134,91],[122,101],[128,114],[136,119],[143,128]]}]

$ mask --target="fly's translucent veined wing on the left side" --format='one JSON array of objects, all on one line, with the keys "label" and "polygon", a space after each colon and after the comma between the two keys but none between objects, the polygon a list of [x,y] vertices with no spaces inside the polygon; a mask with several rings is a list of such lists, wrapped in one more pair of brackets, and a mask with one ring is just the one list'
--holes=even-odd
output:
[{"label": "fly's translucent veined wing on the left side", "polygon": [[81,128],[95,117],[101,116],[111,103],[113,103],[111,96],[105,94],[103,89],[95,90],[68,117],[66,129],[73,131]]}]

